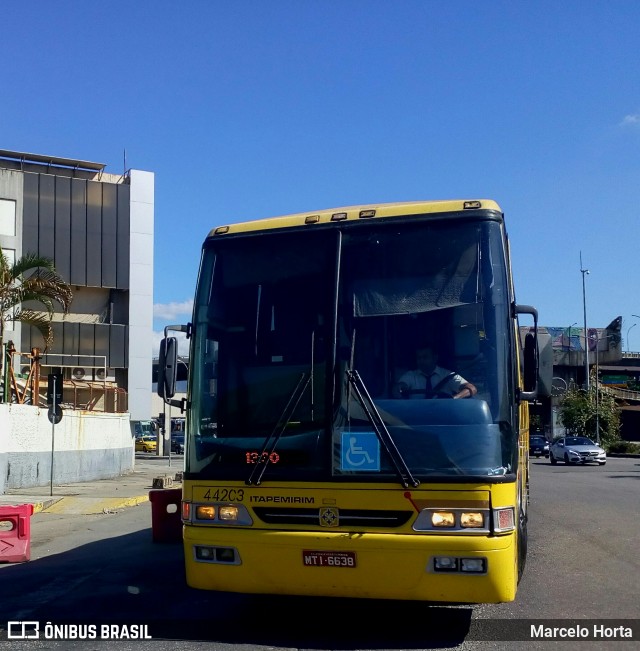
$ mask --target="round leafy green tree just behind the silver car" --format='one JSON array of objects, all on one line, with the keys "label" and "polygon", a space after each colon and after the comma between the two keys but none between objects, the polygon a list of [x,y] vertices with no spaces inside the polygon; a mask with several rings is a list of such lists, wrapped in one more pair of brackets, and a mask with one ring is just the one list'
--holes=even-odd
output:
[{"label": "round leafy green tree just behind the silver car", "polygon": [[620,439],[620,408],[613,396],[593,383],[589,390],[569,388],[560,401],[560,422],[573,434],[597,439],[608,447]]}]

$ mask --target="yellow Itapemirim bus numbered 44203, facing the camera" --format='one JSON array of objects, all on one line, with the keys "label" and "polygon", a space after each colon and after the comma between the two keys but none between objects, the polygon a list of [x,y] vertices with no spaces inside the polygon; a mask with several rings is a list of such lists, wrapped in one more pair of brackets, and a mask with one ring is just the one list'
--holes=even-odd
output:
[{"label": "yellow Itapemirim bus numbered 44203, facing the camera", "polygon": [[[519,337],[518,319],[533,321]],[[213,229],[158,393],[186,416],[188,585],[434,602],[515,598],[527,550],[537,312],[490,200]],[[173,398],[190,340],[187,397]],[[428,340],[472,397],[403,395]],[[450,397],[450,396],[448,396]]]}]

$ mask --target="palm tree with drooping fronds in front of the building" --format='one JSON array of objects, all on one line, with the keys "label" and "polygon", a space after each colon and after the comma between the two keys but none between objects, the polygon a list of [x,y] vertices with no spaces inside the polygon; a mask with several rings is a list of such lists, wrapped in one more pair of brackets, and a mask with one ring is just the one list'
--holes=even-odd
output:
[{"label": "palm tree with drooping fronds in front of the building", "polygon": [[[53,260],[27,253],[13,265],[0,247],[0,378],[4,364],[4,330],[7,321],[20,321],[36,328],[45,341],[45,349],[53,343],[51,320],[54,301],[67,314],[73,293],[71,287],[56,271]],[[25,309],[28,301],[40,303],[45,311]]]}]

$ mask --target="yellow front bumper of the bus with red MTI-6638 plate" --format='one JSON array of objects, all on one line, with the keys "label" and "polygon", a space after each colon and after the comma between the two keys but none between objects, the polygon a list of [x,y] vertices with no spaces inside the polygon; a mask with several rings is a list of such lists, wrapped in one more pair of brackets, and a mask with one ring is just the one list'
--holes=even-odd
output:
[{"label": "yellow front bumper of the bus with red MTI-6638 plate", "polygon": [[228,592],[512,601],[516,537],[274,532],[186,526],[187,584]]}]

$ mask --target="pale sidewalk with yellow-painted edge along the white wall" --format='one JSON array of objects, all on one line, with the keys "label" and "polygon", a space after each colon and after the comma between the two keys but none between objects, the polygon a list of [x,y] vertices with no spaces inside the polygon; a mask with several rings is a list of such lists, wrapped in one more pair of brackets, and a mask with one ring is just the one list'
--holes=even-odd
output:
[{"label": "pale sidewalk with yellow-painted edge along the white wall", "polygon": [[[149,491],[182,486],[182,458],[137,457],[133,472],[113,479],[77,484],[8,489],[0,495],[0,506],[33,504],[33,512],[83,514],[110,513],[149,501]],[[51,494],[53,493],[53,494]]]}]

